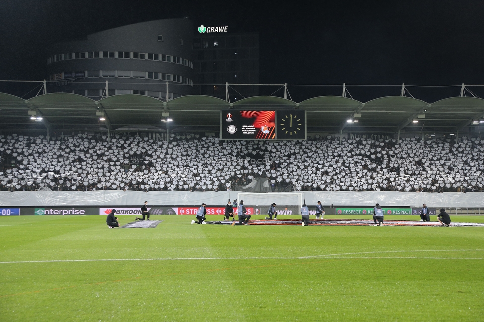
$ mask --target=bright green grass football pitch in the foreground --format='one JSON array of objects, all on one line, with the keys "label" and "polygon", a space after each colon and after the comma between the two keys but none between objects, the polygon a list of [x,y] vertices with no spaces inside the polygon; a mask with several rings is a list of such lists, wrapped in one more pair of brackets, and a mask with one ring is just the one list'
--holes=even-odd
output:
[{"label": "bright green grass football pitch in the foreground", "polygon": [[99,215],[1,217],[0,321],[484,320],[481,227],[193,217],[152,216],[163,222],[148,229],[108,229]]}]

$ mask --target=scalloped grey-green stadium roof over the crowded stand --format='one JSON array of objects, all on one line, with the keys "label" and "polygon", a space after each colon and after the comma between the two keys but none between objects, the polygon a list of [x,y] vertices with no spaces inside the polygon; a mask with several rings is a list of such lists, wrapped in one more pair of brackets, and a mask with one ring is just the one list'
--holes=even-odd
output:
[{"label": "scalloped grey-green stadium roof over the crowded stand", "polygon": [[[211,131],[220,127],[221,111],[306,111],[307,130],[313,133],[398,131],[415,133],[468,132],[467,126],[484,118],[484,99],[451,97],[427,103],[405,96],[387,96],[366,103],[340,96],[320,96],[296,103],[281,97],[255,96],[233,103],[222,99],[189,95],[163,102],[148,96],[123,94],[94,101],[71,93],[50,93],[28,100],[0,93],[0,127],[5,130],[165,131],[166,118],[173,119],[170,131]],[[99,120],[104,115],[106,120]],[[42,117],[32,120],[31,117]],[[355,120],[358,122],[348,122]],[[413,123],[418,120],[418,123]]]}]

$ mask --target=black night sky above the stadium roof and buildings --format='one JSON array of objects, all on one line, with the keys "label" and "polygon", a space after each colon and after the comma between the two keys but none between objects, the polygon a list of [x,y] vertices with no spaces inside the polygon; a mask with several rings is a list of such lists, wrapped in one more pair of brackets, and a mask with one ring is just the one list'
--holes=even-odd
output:
[{"label": "black night sky above the stadium roof and buildings", "polygon": [[[260,83],[338,85],[290,86],[296,102],[341,95],[343,83],[363,102],[400,95],[402,83],[414,97],[434,102],[458,96],[462,83],[484,84],[483,14],[482,0],[0,0],[0,79],[44,79],[44,50],[53,42],[189,17],[195,26],[259,32]],[[12,86],[1,84],[0,91]],[[470,89],[484,96],[484,88]]]}]

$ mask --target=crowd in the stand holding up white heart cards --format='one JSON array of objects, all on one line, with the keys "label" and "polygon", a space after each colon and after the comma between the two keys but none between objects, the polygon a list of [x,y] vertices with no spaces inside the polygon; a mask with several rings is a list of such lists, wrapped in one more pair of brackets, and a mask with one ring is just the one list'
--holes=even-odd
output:
[{"label": "crowd in the stand holding up white heart cards", "polygon": [[273,189],[483,191],[484,140],[224,141],[172,134],[169,142],[105,135],[0,136],[0,190],[216,191],[268,178]]}]

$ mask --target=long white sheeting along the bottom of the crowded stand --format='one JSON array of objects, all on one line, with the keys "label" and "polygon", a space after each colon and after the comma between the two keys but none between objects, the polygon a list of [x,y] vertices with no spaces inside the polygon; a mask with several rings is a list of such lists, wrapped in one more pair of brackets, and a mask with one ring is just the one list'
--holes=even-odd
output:
[{"label": "long white sheeting along the bottom of the crowded stand", "polygon": [[[298,192],[299,193],[299,192]],[[371,206],[375,203],[385,206],[419,207],[424,203],[429,207],[468,207],[484,208],[484,193],[472,192],[393,192],[393,191],[321,191],[300,192],[307,205]],[[237,199],[238,191],[0,191],[0,206],[137,206],[148,201],[152,205],[189,206],[206,203],[210,206],[223,206],[228,200]],[[285,194],[284,192],[280,193]],[[288,194],[294,194],[289,192]],[[257,194],[257,199],[271,198],[273,193]],[[244,200],[250,205],[250,200]]]}]

